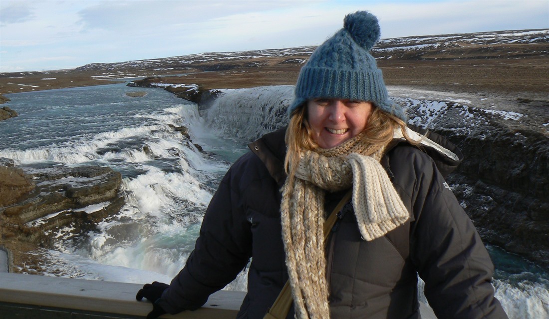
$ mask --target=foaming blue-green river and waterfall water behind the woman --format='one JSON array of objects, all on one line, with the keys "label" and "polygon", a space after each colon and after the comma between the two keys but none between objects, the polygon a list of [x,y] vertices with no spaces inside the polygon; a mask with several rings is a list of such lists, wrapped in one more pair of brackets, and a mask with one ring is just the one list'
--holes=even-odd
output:
[{"label": "foaming blue-green river and waterfall water behind the woman", "polygon": [[[125,94],[143,90],[142,98]],[[411,119],[413,124],[428,125],[447,107],[433,92],[390,93],[402,105],[421,105],[425,116]],[[125,83],[6,96],[19,116],[0,122],[0,158],[19,166],[101,165],[122,174],[126,204],[119,214],[94,232],[74,236],[64,228],[48,234],[55,245],[43,252],[46,274],[147,283],[170,282],[184,266],[222,176],[247,152],[248,142],[285,125],[293,86],[224,89],[200,112],[163,89]],[[452,103],[474,102],[461,96]],[[188,138],[174,127],[186,127]],[[548,318],[549,275],[519,256],[488,249],[496,265],[496,296],[509,317]],[[224,289],[246,290],[246,275],[244,270]]]}]

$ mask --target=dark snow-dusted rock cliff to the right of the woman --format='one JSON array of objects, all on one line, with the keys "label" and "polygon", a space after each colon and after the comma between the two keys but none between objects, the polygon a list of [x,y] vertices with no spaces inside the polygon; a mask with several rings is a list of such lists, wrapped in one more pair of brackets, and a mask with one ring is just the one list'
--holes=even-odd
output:
[{"label": "dark snow-dusted rock cliff to the right of the woman", "polygon": [[411,105],[427,124],[455,143],[463,163],[448,181],[481,237],[549,265],[549,120],[546,101],[516,103],[513,111]]}]

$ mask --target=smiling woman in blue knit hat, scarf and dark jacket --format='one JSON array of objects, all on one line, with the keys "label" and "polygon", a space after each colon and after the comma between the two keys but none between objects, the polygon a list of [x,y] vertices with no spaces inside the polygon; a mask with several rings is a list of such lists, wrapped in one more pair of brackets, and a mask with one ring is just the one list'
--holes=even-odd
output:
[{"label": "smiling woman in blue knit hat, scarf and dark jacket", "polygon": [[[405,125],[369,50],[377,18],[345,17],[301,69],[287,130],[250,144],[171,284],[139,290],[149,318],[197,309],[248,264],[238,318],[262,318],[289,281],[296,318],[419,318],[417,274],[439,318],[506,318],[493,266],[444,181],[452,144]],[[349,189],[324,244],[323,223]]]}]

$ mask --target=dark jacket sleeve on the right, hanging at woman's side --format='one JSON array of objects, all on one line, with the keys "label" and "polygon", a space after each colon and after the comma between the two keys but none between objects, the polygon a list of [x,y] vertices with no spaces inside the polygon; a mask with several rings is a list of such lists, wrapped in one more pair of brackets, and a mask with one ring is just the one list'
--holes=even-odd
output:
[{"label": "dark jacket sleeve on the right, hanging at woman's side", "polygon": [[413,153],[411,258],[439,318],[507,318],[494,297],[494,265],[434,162]]}]

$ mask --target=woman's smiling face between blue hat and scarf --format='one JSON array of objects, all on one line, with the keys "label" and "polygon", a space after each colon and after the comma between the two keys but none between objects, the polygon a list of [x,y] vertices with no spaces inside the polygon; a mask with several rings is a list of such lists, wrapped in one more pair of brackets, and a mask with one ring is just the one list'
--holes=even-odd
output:
[{"label": "woman's smiling face between blue hat and scarf", "polygon": [[333,148],[357,136],[366,128],[372,103],[329,98],[307,102],[307,119],[312,137],[321,148]]}]

